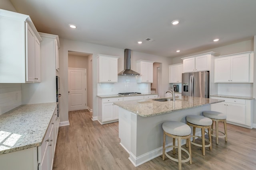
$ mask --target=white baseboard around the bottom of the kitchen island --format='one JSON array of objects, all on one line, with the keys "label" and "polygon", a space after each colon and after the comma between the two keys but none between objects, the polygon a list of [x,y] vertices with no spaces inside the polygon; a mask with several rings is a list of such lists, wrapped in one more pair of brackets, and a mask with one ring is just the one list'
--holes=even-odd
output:
[{"label": "white baseboard around the bottom of the kitchen island", "polygon": [[[201,136],[201,131],[196,132],[196,135],[197,136]],[[191,139],[191,141],[193,140],[192,137],[190,139]],[[185,144],[186,144],[186,140],[182,140],[181,145],[185,145]],[[121,143],[120,143],[120,145],[123,147],[123,145]],[[171,145],[172,145],[172,143],[169,143],[168,145],[166,145],[166,147],[171,146]],[[124,148],[124,149],[127,151],[126,148]],[[172,149],[173,149],[172,147],[167,148],[166,152],[169,152]],[[159,147],[157,149],[151,150],[150,152],[142,154],[142,155],[140,155],[138,157],[134,156],[134,154],[132,154],[132,152],[128,152],[128,153],[130,154],[130,157],[128,159],[132,162],[132,164],[135,167],[137,167],[137,166],[139,166],[141,164],[144,164],[145,162],[148,162],[149,160],[152,160],[152,159],[156,158],[157,156],[162,155],[163,147]]]}]

